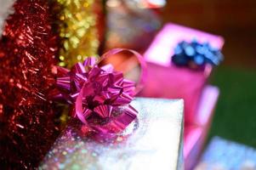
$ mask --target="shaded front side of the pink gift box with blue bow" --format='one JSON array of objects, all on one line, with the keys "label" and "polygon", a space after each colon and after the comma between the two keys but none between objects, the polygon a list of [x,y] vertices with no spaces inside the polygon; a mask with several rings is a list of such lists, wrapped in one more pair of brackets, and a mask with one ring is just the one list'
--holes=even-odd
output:
[{"label": "shaded front side of the pink gift box with blue bow", "polygon": [[148,77],[145,88],[140,94],[143,97],[184,99],[185,123],[195,121],[202,88],[207,78],[201,71],[179,69],[174,66],[162,66],[147,63]]}]

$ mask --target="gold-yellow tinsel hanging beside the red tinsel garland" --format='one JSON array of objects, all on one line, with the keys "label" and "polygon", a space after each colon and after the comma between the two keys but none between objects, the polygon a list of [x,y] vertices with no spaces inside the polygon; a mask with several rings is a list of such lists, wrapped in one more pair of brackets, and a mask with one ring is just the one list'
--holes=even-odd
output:
[{"label": "gold-yellow tinsel hanging beside the red tinsel garland", "polygon": [[94,14],[94,0],[57,0],[62,6],[60,37],[60,66],[71,67],[88,56],[97,54],[99,48]]}]

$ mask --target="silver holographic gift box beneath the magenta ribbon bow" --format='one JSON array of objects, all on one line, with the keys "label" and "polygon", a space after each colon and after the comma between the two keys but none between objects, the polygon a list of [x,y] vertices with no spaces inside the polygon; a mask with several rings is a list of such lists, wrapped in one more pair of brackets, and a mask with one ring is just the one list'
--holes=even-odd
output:
[{"label": "silver holographic gift box beneath the magenta ribbon bow", "polygon": [[70,124],[39,169],[182,169],[183,100],[137,98],[138,120],[114,143],[84,139]]}]

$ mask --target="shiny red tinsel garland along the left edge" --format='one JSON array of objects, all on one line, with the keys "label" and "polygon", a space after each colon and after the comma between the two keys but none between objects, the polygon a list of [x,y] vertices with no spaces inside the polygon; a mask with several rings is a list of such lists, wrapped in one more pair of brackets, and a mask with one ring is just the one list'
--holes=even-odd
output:
[{"label": "shiny red tinsel garland along the left edge", "polygon": [[[54,87],[58,32],[46,0],[18,0],[0,40],[1,168],[32,168],[59,133]],[[56,120],[54,122],[54,120]]]}]

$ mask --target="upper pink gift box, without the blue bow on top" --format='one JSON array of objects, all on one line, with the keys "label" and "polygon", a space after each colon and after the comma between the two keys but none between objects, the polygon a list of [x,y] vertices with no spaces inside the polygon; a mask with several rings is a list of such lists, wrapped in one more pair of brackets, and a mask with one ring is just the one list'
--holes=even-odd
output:
[{"label": "upper pink gift box, without the blue bow on top", "polygon": [[167,24],[162,28],[144,54],[148,64],[148,77],[145,88],[140,94],[144,97],[184,99],[185,122],[195,122],[197,105],[202,89],[208,80],[211,68],[192,71],[171,63],[174,48],[181,41],[209,42],[214,48],[221,49],[224,39],[206,32],[196,31],[184,26]]}]

